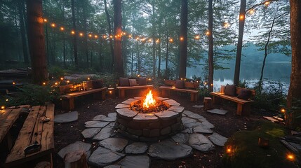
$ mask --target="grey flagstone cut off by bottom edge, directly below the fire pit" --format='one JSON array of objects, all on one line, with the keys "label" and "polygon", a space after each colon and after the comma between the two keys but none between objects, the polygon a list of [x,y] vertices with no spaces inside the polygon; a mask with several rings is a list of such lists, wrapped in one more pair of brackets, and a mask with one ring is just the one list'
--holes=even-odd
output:
[{"label": "grey flagstone cut off by bottom edge, directly below the fire pit", "polygon": [[147,155],[126,156],[119,164],[122,168],[148,168],[150,160]]}]

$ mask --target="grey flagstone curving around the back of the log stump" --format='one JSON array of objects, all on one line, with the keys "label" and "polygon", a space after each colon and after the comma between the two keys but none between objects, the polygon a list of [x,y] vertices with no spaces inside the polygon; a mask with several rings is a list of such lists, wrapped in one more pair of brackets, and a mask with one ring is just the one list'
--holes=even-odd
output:
[{"label": "grey flagstone curving around the back of the log stump", "polygon": [[74,144],[69,144],[65,148],[62,148],[58,152],[58,155],[60,155],[60,158],[64,159],[65,155],[69,152],[83,150],[83,151],[85,151],[87,158],[88,158],[91,154],[90,148],[91,148],[91,144],[87,144],[82,141],[76,141],[76,142],[74,142]]}]

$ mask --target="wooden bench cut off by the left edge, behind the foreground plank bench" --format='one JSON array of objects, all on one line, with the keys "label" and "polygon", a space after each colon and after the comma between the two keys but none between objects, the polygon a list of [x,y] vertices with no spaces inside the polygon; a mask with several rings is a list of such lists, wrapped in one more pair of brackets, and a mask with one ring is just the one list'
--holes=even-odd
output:
[{"label": "wooden bench cut off by the left edge, behind the foreground plank bench", "polygon": [[7,144],[8,150],[11,150],[13,146],[13,140],[11,138],[11,127],[15,120],[17,120],[22,111],[27,111],[29,105],[25,106],[15,106],[8,109],[0,110],[0,142],[5,141]]}]

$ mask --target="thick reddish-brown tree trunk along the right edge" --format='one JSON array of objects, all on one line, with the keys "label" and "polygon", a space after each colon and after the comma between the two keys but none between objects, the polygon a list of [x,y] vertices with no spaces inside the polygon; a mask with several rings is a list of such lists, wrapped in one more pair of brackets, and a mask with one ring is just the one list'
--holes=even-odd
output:
[{"label": "thick reddish-brown tree trunk along the right edge", "polygon": [[[292,72],[288,89],[287,106],[301,106],[301,1],[290,0],[290,44],[292,46]],[[299,100],[299,102],[297,102]]]}]

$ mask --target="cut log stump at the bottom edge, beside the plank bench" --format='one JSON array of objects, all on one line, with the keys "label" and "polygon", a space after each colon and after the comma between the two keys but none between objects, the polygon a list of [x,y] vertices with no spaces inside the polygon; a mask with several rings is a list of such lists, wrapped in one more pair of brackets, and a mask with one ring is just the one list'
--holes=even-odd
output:
[{"label": "cut log stump at the bottom edge, beside the plank bench", "polygon": [[65,155],[65,168],[88,168],[85,152],[77,150],[67,153]]}]

